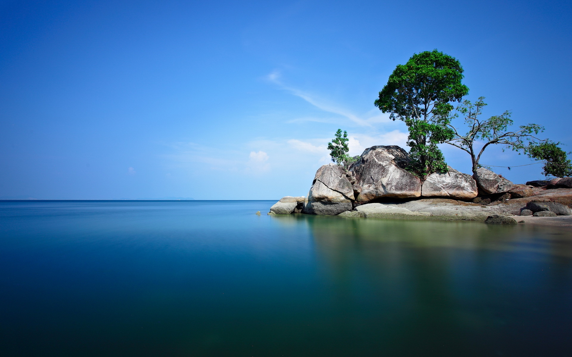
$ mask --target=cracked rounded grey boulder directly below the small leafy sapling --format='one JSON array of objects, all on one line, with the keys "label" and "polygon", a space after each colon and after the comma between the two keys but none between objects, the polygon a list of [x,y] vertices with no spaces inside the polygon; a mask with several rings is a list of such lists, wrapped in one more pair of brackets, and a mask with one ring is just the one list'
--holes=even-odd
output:
[{"label": "cracked rounded grey boulder directly below the small leafy sapling", "polygon": [[318,169],[303,213],[337,215],[352,209],[353,187],[344,169],[333,163]]}]

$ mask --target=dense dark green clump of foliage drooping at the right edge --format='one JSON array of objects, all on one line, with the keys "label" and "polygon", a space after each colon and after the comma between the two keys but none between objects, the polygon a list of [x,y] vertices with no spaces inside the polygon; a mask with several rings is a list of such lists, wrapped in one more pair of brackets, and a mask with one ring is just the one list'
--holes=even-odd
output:
[{"label": "dense dark green clump of foliage drooping at the right edge", "polygon": [[545,160],[542,174],[554,177],[572,176],[572,165],[566,156],[566,152],[558,147],[559,142],[545,141],[530,143],[526,147],[526,154],[537,160]]}]

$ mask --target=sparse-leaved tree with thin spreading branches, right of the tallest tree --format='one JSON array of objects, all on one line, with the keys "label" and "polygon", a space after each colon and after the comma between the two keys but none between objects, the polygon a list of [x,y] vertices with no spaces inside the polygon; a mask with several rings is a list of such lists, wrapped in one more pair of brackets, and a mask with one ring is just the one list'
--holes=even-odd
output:
[{"label": "sparse-leaved tree with thin spreading branches, right of the tallest tree", "polygon": [[[456,113],[449,115],[446,124],[454,132],[454,135],[452,139],[448,139],[445,142],[471,155],[473,173],[475,173],[476,169],[482,167],[479,165],[479,160],[489,145],[501,144],[505,145],[503,151],[511,149],[526,153],[529,148],[534,147],[538,142],[546,142],[546,140],[538,139],[534,136],[544,131],[544,127],[538,124],[521,125],[518,130],[508,130],[514,123],[510,119],[512,113],[509,110],[501,115],[480,119],[483,107],[487,106],[483,99],[484,97],[479,97],[474,103],[467,100],[463,101],[456,108]],[[459,134],[459,131],[451,125],[451,121],[459,117],[459,114],[464,117],[464,122],[468,126],[469,130],[466,134]],[[484,142],[480,150],[475,149],[475,141]]]}]

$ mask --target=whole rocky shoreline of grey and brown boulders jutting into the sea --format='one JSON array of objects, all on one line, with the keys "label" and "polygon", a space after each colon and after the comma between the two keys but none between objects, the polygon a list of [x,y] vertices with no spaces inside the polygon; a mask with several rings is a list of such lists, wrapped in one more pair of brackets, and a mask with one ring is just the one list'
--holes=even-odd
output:
[{"label": "whole rocky shoreline of grey and brown boulders jutting into the sea", "polygon": [[492,215],[570,215],[572,178],[513,184],[483,167],[476,180],[449,167],[448,173],[422,181],[405,170],[409,161],[399,146],[370,147],[348,170],[333,163],[321,166],[307,197],[285,196],[268,214],[486,223],[517,223]]}]

